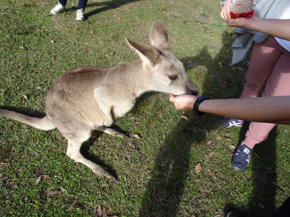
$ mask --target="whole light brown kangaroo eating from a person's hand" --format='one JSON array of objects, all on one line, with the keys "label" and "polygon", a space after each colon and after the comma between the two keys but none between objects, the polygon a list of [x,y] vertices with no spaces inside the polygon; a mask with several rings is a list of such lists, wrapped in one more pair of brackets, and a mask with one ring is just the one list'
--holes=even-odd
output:
[{"label": "whole light brown kangaroo eating from a person's hand", "polygon": [[168,32],[160,21],[152,25],[151,47],[128,38],[125,40],[140,58],[114,67],[84,66],[64,72],[47,92],[43,118],[4,109],[0,109],[0,115],[45,131],[57,128],[68,140],[67,156],[86,165],[95,174],[115,181],[104,167],[80,153],[91,131],[126,138],[110,126],[129,112],[136,98],[145,92],[198,94],[198,88],[186,75],[182,63],[169,52]]}]

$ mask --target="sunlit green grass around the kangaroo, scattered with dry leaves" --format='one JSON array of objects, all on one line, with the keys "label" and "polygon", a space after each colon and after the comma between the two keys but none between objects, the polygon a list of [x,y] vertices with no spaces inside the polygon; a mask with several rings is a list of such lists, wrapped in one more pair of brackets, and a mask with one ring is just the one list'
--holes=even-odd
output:
[{"label": "sunlit green grass around the kangaroo, scattered with dry leaves", "polygon": [[[0,2],[0,108],[43,116],[46,92],[61,73],[134,60],[124,37],[149,44],[156,20],[166,25],[171,52],[200,95],[241,93],[248,57],[228,65],[235,28],[219,17],[219,1],[90,0],[83,22],[75,20],[76,0],[68,0],[65,12],[50,15],[55,3]],[[188,121],[167,94],[147,93],[115,122],[129,139],[93,132],[96,138],[81,151],[115,174],[115,183],[67,157],[66,140],[57,130],[44,132],[0,117],[0,163],[9,164],[0,167],[1,216],[98,216],[99,205],[103,217],[213,217],[227,208],[249,217],[270,216],[290,195],[289,126],[275,127],[254,148],[247,169],[237,172],[228,146],[241,142],[248,125],[222,130],[214,125],[218,116],[184,114]],[[198,163],[202,170],[196,174]],[[35,185],[40,175],[49,179]],[[68,211],[74,201],[79,209]]]}]

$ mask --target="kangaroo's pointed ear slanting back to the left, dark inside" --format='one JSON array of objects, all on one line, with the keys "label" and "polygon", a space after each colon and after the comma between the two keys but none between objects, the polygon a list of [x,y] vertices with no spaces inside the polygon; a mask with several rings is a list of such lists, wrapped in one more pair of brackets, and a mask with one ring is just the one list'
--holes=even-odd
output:
[{"label": "kangaroo's pointed ear slanting back to the left, dark inside", "polygon": [[149,48],[143,44],[131,41],[128,38],[125,38],[127,43],[132,47],[139,57],[145,62],[149,67],[153,67],[158,60],[158,51],[156,49]]}]

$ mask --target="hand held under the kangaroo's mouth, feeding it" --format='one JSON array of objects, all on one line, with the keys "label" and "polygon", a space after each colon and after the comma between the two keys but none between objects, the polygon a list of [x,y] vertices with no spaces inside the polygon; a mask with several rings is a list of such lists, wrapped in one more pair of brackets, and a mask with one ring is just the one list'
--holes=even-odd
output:
[{"label": "hand held under the kangaroo's mouth, feeding it", "polygon": [[169,101],[174,103],[176,109],[192,110],[197,98],[197,96],[189,94],[181,94],[178,96],[170,94]]}]

